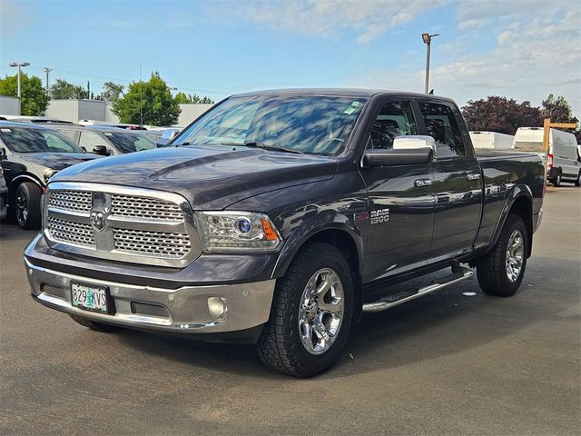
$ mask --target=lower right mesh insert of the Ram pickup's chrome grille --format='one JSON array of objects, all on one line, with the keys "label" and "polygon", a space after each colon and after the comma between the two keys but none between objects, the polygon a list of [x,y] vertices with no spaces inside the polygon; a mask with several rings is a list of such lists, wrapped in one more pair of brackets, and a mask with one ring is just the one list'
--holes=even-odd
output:
[{"label": "lower right mesh insert of the Ram pickup's chrome grille", "polygon": [[148,232],[113,228],[115,249],[120,252],[179,259],[190,251],[188,233]]}]

